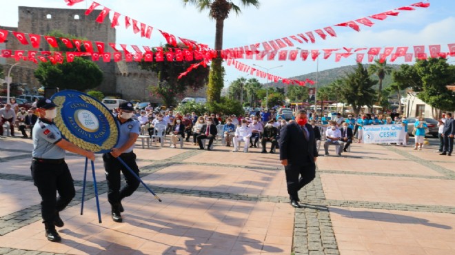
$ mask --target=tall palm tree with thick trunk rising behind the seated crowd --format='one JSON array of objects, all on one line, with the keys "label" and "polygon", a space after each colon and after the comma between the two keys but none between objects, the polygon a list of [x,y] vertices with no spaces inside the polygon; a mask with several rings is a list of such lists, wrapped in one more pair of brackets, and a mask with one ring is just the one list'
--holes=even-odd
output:
[{"label": "tall palm tree with thick trunk rising behind the seated crowd", "polygon": [[[210,66],[207,99],[209,102],[219,102],[221,99],[221,90],[223,89],[224,76],[224,69],[221,65],[223,63],[223,59],[221,59],[220,54],[220,51],[223,49],[224,20],[228,19],[231,10],[233,10],[236,14],[239,14],[241,10],[239,6],[236,6],[230,0],[183,0],[183,3],[192,3],[197,6],[199,11],[209,9],[209,17],[216,21],[215,50],[218,57],[212,60],[212,65]],[[245,7],[259,7],[258,0],[240,0],[240,3]]]}]

